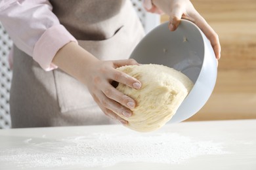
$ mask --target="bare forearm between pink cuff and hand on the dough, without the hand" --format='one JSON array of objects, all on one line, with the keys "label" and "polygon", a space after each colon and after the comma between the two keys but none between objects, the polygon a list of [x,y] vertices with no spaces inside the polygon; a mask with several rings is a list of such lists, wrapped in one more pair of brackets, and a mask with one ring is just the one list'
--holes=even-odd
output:
[{"label": "bare forearm between pink cuff and hand on the dough, without the hand", "polygon": [[99,60],[93,54],[87,52],[75,42],[69,42],[60,48],[53,58],[55,65],[83,84],[87,84],[85,78],[87,68],[96,61]]}]

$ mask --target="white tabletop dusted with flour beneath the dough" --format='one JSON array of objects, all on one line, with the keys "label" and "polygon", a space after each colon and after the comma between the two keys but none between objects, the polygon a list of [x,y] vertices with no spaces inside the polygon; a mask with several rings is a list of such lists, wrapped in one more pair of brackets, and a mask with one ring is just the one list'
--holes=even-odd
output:
[{"label": "white tabletop dusted with flour beneath the dough", "polygon": [[0,130],[0,169],[137,168],[255,170],[256,120]]}]

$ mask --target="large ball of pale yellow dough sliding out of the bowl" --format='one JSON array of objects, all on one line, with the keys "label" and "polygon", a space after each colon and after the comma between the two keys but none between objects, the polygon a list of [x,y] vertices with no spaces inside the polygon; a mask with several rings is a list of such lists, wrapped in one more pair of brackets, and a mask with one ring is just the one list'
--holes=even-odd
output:
[{"label": "large ball of pale yellow dough sliding out of the bowl", "polygon": [[137,107],[126,118],[127,127],[147,132],[159,129],[175,114],[193,87],[193,82],[181,72],[163,65],[127,65],[117,68],[140,80],[142,87],[135,90],[119,83],[117,90],[135,99]]}]

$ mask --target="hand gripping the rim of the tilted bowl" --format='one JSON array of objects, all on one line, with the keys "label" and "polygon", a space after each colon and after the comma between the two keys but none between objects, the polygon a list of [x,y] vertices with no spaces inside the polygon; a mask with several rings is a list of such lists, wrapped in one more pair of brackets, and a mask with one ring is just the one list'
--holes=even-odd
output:
[{"label": "hand gripping the rim of the tilted bowl", "polygon": [[196,11],[189,0],[152,0],[152,8],[150,12],[164,12],[169,15],[169,29],[175,31],[181,22],[181,18],[190,20],[198,25],[205,36],[211,42],[215,56],[221,58],[221,44],[217,33],[211,28],[204,18]]}]

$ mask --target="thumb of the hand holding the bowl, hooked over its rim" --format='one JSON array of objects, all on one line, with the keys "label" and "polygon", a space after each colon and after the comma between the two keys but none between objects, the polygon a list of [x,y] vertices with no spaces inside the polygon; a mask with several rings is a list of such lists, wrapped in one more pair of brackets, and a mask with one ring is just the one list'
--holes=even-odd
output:
[{"label": "thumb of the hand holding the bowl, hooked over its rim", "polygon": [[173,5],[173,8],[169,14],[169,29],[170,31],[175,31],[179,24],[181,23],[181,16],[183,14],[184,7],[181,4]]}]

